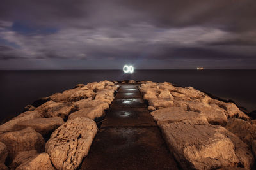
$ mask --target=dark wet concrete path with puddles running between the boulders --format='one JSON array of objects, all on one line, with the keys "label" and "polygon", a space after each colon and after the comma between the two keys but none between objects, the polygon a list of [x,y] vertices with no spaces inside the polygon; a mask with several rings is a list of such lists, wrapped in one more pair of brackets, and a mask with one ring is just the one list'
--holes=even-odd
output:
[{"label": "dark wet concrete path with puddles running between the boulders", "polygon": [[121,85],[81,169],[178,169],[138,85]]}]

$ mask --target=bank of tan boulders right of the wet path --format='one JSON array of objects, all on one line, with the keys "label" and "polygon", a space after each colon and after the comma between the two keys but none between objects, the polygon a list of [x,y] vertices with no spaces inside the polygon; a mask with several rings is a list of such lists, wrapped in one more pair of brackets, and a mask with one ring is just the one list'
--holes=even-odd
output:
[{"label": "bank of tan boulders right of the wet path", "polygon": [[253,168],[256,122],[234,103],[166,82],[142,83],[140,91],[182,169]]}]

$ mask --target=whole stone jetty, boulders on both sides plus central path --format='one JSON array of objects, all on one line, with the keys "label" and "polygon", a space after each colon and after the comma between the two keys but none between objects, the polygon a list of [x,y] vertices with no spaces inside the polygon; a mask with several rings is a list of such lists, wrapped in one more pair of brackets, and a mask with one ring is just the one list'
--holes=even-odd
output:
[{"label": "whole stone jetty, boulders on both sides plus central path", "polygon": [[256,121],[193,87],[101,81],[0,125],[0,169],[254,169]]}]

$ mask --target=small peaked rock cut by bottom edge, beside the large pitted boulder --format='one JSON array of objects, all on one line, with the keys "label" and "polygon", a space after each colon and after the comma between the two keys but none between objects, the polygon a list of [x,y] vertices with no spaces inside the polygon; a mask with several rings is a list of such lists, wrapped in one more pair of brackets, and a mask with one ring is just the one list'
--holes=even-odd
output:
[{"label": "small peaked rock cut by bottom edge, beside the large pitted boulder", "polygon": [[17,170],[54,170],[55,168],[51,164],[51,160],[49,159],[49,155],[47,153],[40,153],[33,157],[33,159],[24,162],[20,166],[17,167]]}]

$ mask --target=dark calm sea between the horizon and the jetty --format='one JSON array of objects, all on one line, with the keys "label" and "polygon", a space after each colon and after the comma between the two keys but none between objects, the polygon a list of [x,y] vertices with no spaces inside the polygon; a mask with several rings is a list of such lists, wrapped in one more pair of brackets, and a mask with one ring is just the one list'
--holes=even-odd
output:
[{"label": "dark calm sea between the horizon and the jetty", "polygon": [[0,122],[18,115],[24,106],[40,97],[78,83],[103,80],[168,81],[232,99],[248,111],[256,110],[256,70],[137,70],[131,75],[113,70],[0,71]]}]

